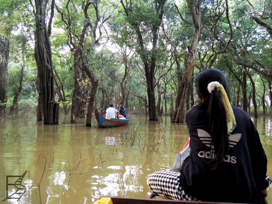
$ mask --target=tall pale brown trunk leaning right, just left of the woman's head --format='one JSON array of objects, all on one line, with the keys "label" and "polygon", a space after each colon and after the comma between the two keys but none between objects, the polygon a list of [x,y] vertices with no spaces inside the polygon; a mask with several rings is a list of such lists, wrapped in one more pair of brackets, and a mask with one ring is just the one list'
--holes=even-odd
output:
[{"label": "tall pale brown trunk leaning right, just left of the woman's head", "polygon": [[175,113],[174,113],[174,119],[172,122],[183,122],[184,121],[184,104],[186,100],[186,92],[188,85],[191,80],[191,76],[193,73],[193,69],[195,66],[196,62],[196,54],[198,51],[198,40],[199,40],[199,35],[200,35],[200,21],[201,21],[201,0],[198,0],[197,3],[197,11],[198,13],[196,14],[196,10],[194,7],[194,1],[193,0],[186,0],[188,7],[191,11],[192,18],[193,18],[193,23],[195,26],[195,31],[193,34],[193,39],[192,39],[192,44],[191,47],[189,47],[189,53],[190,53],[190,59],[188,62],[188,66],[185,71],[185,75],[180,83],[179,86],[179,91],[178,95],[176,97],[176,108],[175,108]]}]

